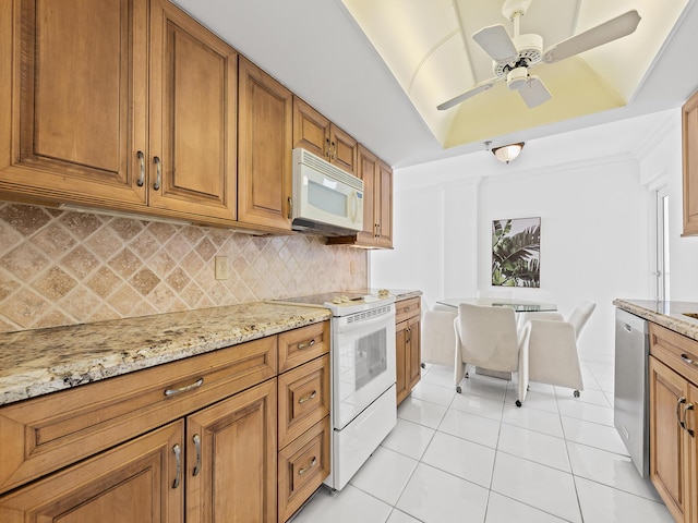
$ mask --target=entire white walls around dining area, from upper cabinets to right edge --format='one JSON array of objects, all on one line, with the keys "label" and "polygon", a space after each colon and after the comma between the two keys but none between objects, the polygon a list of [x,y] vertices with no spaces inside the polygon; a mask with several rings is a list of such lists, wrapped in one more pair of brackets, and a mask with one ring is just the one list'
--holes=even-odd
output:
[{"label": "entire white walls around dining area, from upper cabinets to right edge", "polygon": [[371,254],[372,287],[421,289],[429,303],[474,295],[490,285],[492,220],[540,216],[541,288],[513,295],[565,315],[597,302],[581,355],[612,363],[612,301],[653,297],[652,190],[664,182],[671,296],[698,301],[698,238],[681,238],[676,113],[540,138],[510,166],[482,153],[396,170],[395,250]]}]

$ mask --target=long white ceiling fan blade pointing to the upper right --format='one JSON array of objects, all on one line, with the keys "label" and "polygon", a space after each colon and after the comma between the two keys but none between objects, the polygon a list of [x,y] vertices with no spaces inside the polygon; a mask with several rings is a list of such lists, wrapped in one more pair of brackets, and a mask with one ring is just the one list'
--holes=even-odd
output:
[{"label": "long white ceiling fan blade pointing to the upper right", "polygon": [[609,41],[617,40],[635,32],[640,23],[640,15],[637,11],[628,11],[625,14],[611,19],[601,25],[597,25],[589,31],[579,33],[566,40],[559,41],[545,49],[543,62],[553,63],[574,57],[580,52],[602,46]]}]

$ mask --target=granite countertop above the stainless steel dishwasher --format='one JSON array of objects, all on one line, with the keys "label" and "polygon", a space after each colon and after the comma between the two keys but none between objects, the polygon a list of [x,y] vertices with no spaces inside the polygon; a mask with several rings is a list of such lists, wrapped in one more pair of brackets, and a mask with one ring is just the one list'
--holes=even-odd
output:
[{"label": "granite countertop above the stainless steel dishwasher", "polygon": [[616,299],[613,305],[698,341],[698,319],[685,315],[698,314],[698,303]]}]

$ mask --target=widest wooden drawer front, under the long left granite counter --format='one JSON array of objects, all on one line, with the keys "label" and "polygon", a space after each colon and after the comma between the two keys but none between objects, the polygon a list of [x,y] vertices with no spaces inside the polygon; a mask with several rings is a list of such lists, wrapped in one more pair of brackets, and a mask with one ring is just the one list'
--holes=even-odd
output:
[{"label": "widest wooden drawer front, under the long left granite counter", "polygon": [[0,409],[0,492],[276,376],[277,337]]}]

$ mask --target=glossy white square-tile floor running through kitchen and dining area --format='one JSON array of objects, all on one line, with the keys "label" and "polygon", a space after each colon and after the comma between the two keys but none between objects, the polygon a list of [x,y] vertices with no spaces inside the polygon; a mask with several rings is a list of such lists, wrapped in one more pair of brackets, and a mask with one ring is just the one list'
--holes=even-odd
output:
[{"label": "glossy white square-tile floor running through kitchen and dining area", "polygon": [[395,429],[340,492],[321,488],[293,523],[672,523],[613,427],[613,367],[582,363],[580,398],[430,366]]}]

